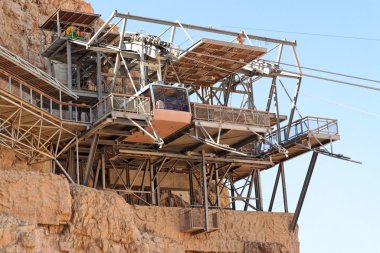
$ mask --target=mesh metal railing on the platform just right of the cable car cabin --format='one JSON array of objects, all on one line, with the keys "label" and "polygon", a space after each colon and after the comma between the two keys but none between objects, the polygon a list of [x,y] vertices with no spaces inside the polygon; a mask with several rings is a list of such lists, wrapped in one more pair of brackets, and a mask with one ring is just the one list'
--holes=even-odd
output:
[{"label": "mesh metal railing on the platform just right of the cable car cabin", "polygon": [[194,119],[218,123],[270,127],[270,115],[253,109],[191,103]]}]

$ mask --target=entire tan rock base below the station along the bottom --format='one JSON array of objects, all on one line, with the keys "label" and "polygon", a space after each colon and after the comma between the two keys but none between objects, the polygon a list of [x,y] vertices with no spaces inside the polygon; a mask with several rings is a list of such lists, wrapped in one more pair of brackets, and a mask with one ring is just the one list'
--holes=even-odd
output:
[{"label": "entire tan rock base below the station along the bottom", "polygon": [[69,190],[50,173],[3,171],[0,182],[0,252],[299,252],[291,214],[219,211],[218,231],[193,235],[183,232],[185,208],[131,206],[114,191],[79,185]]}]

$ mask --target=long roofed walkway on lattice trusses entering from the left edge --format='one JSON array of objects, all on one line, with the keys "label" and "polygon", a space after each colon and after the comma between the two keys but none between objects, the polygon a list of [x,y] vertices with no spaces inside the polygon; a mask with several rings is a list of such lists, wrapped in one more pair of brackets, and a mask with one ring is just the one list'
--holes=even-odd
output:
[{"label": "long roofed walkway on lattice trusses entering from the left edge", "polygon": [[[53,159],[86,130],[90,108],[58,80],[0,47],[0,142],[30,163]],[[59,165],[60,166],[60,165]]]}]

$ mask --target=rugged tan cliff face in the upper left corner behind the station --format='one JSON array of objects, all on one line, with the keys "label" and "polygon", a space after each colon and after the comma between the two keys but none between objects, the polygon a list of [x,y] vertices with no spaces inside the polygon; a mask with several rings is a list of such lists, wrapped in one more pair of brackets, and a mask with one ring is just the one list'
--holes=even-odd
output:
[{"label": "rugged tan cliff face in the upper left corner behind the station", "polygon": [[50,41],[39,26],[58,9],[93,12],[84,0],[2,0],[0,1],[0,45],[44,68],[41,57],[45,41]]}]

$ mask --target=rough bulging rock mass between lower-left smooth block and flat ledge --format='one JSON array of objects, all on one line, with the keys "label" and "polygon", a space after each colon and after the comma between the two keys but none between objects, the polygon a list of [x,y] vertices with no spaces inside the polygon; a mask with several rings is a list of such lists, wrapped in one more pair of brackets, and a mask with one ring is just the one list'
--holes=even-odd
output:
[{"label": "rough bulging rock mass between lower-left smooth block and flat ledge", "polygon": [[167,238],[141,232],[133,208],[113,191],[72,185],[72,217],[61,240],[73,252],[184,252]]}]

